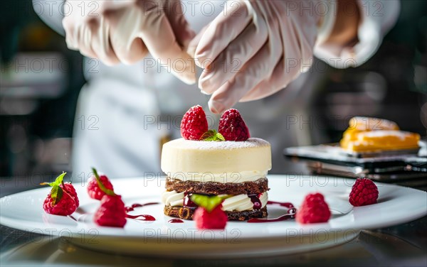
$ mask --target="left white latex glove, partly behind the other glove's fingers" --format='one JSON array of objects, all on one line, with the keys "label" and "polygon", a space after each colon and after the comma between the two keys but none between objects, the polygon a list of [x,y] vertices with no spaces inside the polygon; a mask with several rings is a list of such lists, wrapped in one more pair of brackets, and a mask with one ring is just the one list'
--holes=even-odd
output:
[{"label": "left white latex glove, partly behind the other glove's fingers", "polygon": [[180,1],[70,0],[64,13],[68,48],[107,65],[132,64],[152,53],[182,81],[196,81],[194,60],[186,53],[195,34]]}]

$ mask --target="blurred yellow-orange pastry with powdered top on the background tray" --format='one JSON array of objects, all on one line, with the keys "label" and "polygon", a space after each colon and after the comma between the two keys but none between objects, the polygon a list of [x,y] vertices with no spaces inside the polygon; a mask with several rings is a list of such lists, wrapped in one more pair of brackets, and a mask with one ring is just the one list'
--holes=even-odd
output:
[{"label": "blurred yellow-orange pastry with powdered top on the background tray", "polygon": [[349,121],[340,146],[347,151],[371,152],[419,148],[418,133],[400,131],[394,121],[357,116]]}]

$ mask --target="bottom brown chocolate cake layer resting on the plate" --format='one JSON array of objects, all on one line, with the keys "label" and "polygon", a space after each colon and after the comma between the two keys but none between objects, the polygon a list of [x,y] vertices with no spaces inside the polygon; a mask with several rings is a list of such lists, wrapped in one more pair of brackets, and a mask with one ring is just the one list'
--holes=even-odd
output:
[{"label": "bottom brown chocolate cake layer resting on the plate", "polygon": [[[177,217],[180,219],[193,219],[193,214],[196,209],[189,207],[172,207],[164,206],[164,214],[171,217]],[[229,221],[246,221],[252,218],[263,218],[267,217],[267,207],[262,209],[244,210],[242,212],[226,212]]]}]

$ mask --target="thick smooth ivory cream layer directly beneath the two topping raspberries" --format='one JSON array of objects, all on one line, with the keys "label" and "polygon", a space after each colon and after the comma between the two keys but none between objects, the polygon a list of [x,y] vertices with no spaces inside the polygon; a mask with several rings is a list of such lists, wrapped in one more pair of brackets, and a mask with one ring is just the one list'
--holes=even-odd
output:
[{"label": "thick smooth ivory cream layer directly beneath the two topping raspberries", "polygon": [[241,142],[179,138],[163,145],[161,167],[169,177],[179,180],[254,181],[271,169],[271,148],[260,138]]}]

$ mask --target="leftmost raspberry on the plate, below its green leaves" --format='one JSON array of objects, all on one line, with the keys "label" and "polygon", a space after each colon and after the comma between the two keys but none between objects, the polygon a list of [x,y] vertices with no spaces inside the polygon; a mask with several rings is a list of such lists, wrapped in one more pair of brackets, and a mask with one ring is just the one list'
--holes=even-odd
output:
[{"label": "leftmost raspberry on the plate, below its green leaves", "polygon": [[60,198],[56,197],[56,203],[55,199],[51,196],[51,193],[49,193],[48,197],[44,200],[43,209],[48,214],[67,216],[73,214],[75,209],[77,209],[74,198],[71,197],[68,192],[65,192],[65,190],[61,191],[62,195]]}]

